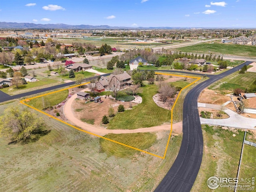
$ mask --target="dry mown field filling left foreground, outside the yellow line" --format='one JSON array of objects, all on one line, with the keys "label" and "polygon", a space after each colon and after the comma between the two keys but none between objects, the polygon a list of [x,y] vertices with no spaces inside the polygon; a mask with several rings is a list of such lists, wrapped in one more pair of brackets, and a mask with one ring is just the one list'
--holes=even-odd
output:
[{"label": "dry mown field filling left foreground, outside the yellow line", "polygon": [[[141,152],[117,158],[102,152],[99,138],[42,117],[51,132],[37,142],[7,145],[0,138],[1,191],[153,191],[172,166],[182,140],[172,136],[164,160]],[[152,147],[165,148],[167,138],[162,132]]]}]

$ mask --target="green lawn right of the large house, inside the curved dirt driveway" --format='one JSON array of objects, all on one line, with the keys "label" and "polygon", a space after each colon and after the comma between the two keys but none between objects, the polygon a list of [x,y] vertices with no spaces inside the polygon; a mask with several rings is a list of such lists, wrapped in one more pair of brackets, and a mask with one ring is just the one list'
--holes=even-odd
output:
[{"label": "green lawn right of the large house, inside the curved dirt driveway", "polygon": [[146,85],[141,88],[142,103],[126,110],[110,120],[108,129],[137,129],[161,125],[170,122],[171,112],[158,107],[152,96],[157,93],[158,86]]}]

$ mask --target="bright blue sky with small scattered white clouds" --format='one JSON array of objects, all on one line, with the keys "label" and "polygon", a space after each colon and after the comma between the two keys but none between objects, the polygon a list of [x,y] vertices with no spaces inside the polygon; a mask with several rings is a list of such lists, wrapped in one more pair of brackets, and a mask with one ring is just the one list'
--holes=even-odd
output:
[{"label": "bright blue sky with small scattered white clouds", "polygon": [[256,0],[0,0],[0,21],[256,28]]}]

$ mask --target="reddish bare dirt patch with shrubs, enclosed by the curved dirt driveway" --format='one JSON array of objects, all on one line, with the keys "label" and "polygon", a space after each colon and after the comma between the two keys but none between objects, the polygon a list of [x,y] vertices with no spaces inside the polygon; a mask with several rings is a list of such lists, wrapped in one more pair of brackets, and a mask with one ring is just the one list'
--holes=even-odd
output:
[{"label": "reddish bare dirt patch with shrubs, enclosed by the curved dirt driveway", "polygon": [[[130,109],[130,104],[132,106],[137,105],[137,103],[133,102],[120,102],[111,99],[110,97],[101,97],[102,103],[88,102],[85,100],[74,100],[72,103],[72,109],[74,110],[75,116],[78,119],[94,119],[94,125],[101,126],[102,125],[102,117],[104,115],[108,116],[108,109],[110,106],[113,107],[114,113],[116,114],[118,111],[118,106],[123,105],[125,110]],[[80,109],[80,112],[75,110]]]}]

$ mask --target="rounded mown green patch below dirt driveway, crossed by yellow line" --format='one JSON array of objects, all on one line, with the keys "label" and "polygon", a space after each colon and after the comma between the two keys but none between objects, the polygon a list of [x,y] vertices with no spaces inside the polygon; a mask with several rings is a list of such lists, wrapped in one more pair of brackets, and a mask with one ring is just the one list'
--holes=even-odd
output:
[{"label": "rounded mown green patch below dirt driveway, crossed by yellow line", "polygon": [[[155,133],[108,134],[104,137],[140,150],[149,148],[154,142],[156,142]],[[132,156],[138,152],[137,150],[103,138],[100,138],[100,147],[102,152],[105,152],[108,156],[116,156],[120,158]]]}]

